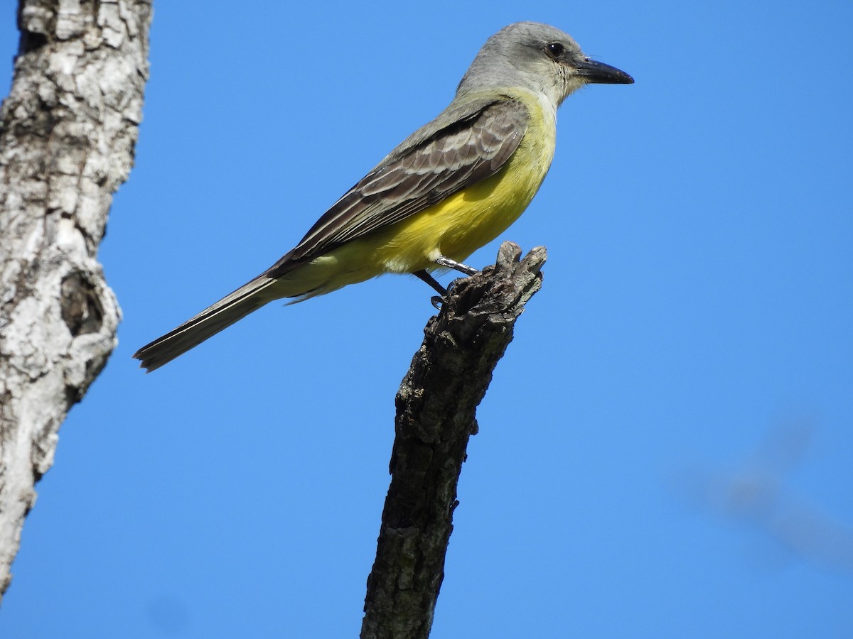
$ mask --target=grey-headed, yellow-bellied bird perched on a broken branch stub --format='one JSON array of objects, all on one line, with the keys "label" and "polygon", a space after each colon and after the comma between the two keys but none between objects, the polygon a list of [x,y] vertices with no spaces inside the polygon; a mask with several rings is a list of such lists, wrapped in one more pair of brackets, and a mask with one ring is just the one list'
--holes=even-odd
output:
[{"label": "grey-headed, yellow-bellied bird perched on a broken branch stub", "polygon": [[270,268],[140,348],[148,372],[276,299],[301,302],[383,273],[463,263],[531,203],[554,158],[557,107],[589,83],[634,82],[560,29],[516,22],[486,40],[450,105],[357,181]]}]

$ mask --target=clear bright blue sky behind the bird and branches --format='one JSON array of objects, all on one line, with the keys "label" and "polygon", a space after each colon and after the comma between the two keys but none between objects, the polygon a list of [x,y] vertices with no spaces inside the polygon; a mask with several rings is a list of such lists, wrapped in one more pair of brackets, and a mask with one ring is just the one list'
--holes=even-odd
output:
[{"label": "clear bright blue sky behind the bird and branches", "polygon": [[502,237],[549,259],[479,409],[432,636],[853,636],[853,5],[197,7],[156,7],[101,250],[119,348],[61,429],[0,635],[357,634],[427,287],[270,304],[147,376],[131,354],[539,20],[636,83],[566,101]]}]

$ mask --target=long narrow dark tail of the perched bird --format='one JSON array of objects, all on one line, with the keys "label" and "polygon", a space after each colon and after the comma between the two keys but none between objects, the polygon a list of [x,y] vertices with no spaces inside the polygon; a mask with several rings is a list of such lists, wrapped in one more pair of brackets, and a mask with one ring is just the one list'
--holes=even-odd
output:
[{"label": "long narrow dark tail of the perched bird", "polygon": [[211,307],[205,308],[192,320],[187,320],[174,331],[143,346],[133,357],[141,360],[140,366],[148,372],[160,368],[275,299],[275,296],[263,295],[264,290],[275,281],[264,275],[252,279]]}]

